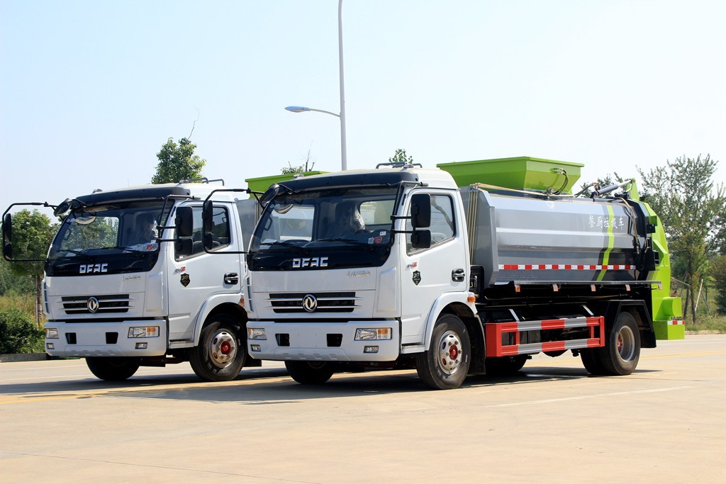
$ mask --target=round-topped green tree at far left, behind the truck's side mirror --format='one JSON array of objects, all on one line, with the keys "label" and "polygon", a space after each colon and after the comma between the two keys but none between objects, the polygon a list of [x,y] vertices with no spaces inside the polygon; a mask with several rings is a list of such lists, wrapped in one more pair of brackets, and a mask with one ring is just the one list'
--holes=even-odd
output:
[{"label": "round-topped green tree at far left, behind the truck's side mirror", "polygon": [[38,210],[20,210],[12,216],[12,258],[40,259],[35,262],[16,262],[10,265],[13,274],[30,277],[36,294],[36,323],[41,316],[41,281],[44,260],[57,226]]}]

